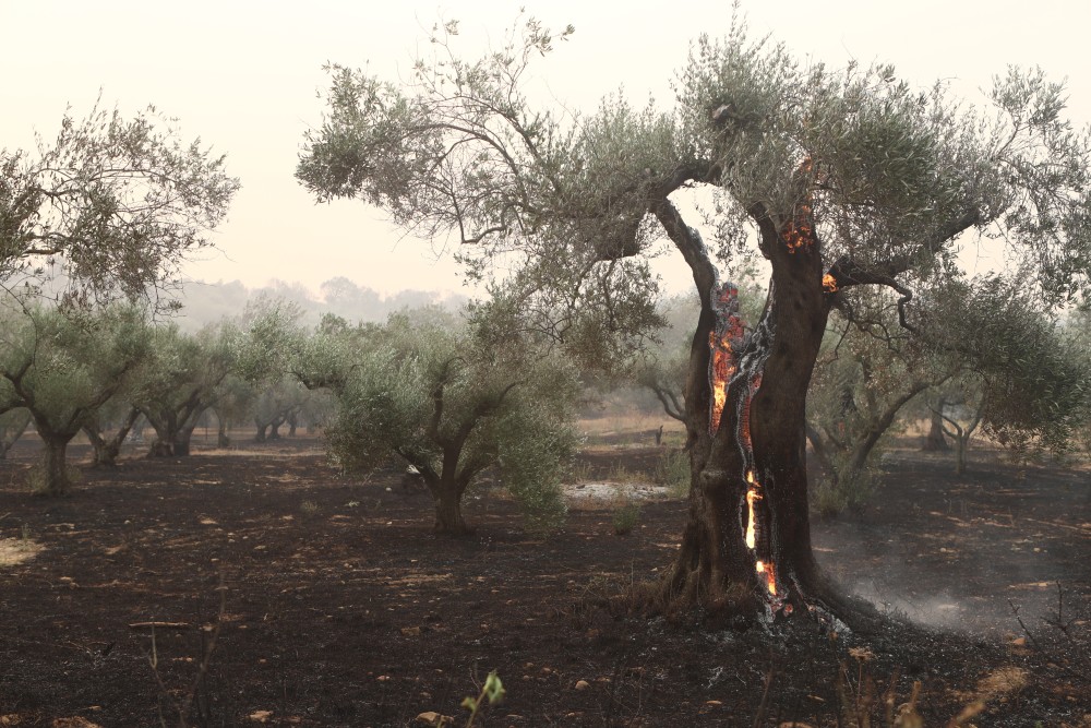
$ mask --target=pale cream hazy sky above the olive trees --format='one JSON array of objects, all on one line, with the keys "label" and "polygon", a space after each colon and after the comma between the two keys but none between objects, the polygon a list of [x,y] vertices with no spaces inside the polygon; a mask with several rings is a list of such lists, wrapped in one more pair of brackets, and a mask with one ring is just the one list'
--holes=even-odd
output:
[{"label": "pale cream hazy sky above the olive trees", "polygon": [[[435,261],[428,242],[400,239],[382,213],[358,202],[316,206],[292,171],[311,126],[321,122],[316,92],[325,61],[368,64],[407,75],[425,32],[439,19],[460,21],[460,48],[477,56],[500,45],[519,8],[576,34],[535,69],[544,103],[590,110],[624,87],[670,103],[670,80],[702,33],[723,34],[726,0],[674,2],[444,3],[386,0],[271,2],[149,0],[61,2],[0,0],[0,147],[32,147],[34,133],[56,134],[71,105],[84,116],[101,89],[108,106],[133,111],[155,104],[177,117],[183,135],[228,155],[242,191],[217,234],[219,252],[188,266],[209,282],[301,282],[317,289],[344,275],[391,293],[459,289],[457,268]],[[1041,65],[1068,77],[1070,117],[1091,122],[1086,0],[747,0],[752,35],[771,33],[799,57],[840,67],[892,62],[922,87],[949,79],[970,98],[1008,63]],[[679,266],[666,268],[682,287]]]}]

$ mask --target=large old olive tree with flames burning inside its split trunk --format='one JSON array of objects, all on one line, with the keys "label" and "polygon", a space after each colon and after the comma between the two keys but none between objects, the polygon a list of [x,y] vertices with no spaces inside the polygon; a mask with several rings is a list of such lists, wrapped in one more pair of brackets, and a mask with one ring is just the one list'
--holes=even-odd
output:
[{"label": "large old olive tree with flames burning inside its split trunk", "polygon": [[[611,96],[570,118],[523,86],[558,36],[531,21],[464,61],[455,29],[437,31],[435,58],[400,85],[331,68],[297,178],[320,201],[358,198],[413,232],[453,235],[472,275],[516,268],[495,288],[528,325],[579,345],[652,323],[646,261],[666,236],[700,313],[690,514],[664,601],[868,622],[811,546],[805,399],[828,317],[880,286],[914,326],[914,291],[957,275],[956,241],[985,234],[1026,262],[1043,305],[1086,291],[1091,150],[1062,117],[1063,87],[1012,70],[976,112],[887,65],[802,65],[735,23],[693,46],[671,109]],[[715,246],[681,204],[694,189],[716,200]],[[727,274],[754,244],[771,275],[747,325]]]}]

